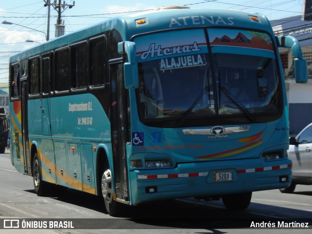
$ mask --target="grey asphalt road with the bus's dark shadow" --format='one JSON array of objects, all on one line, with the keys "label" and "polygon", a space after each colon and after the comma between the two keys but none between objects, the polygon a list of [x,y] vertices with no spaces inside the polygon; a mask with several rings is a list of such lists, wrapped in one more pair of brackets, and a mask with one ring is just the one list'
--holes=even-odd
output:
[{"label": "grey asphalt road with the bus's dark shadow", "polygon": [[[88,229],[8,230],[0,234],[95,234],[99,233],[311,233],[309,229],[254,228],[284,221],[304,223],[312,220],[312,186],[299,185],[293,194],[279,190],[254,192],[246,211],[229,211],[221,201],[198,201],[192,198],[150,202],[137,207],[124,207],[116,218],[107,214],[101,199],[75,190],[62,197],[39,197],[35,194],[31,176],[16,172],[10,154],[0,154],[0,222],[2,219],[73,221],[73,225]],[[310,219],[309,219],[310,218]],[[85,225],[85,226],[84,226]],[[251,227],[252,226],[252,227]],[[0,223],[1,227],[1,223]],[[94,229],[98,228],[98,229]]]}]

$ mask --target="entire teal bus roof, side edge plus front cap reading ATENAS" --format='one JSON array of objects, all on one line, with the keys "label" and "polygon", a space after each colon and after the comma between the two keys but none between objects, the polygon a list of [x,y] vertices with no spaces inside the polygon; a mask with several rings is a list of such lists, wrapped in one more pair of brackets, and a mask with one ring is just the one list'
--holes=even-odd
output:
[{"label": "entire teal bus roof, side edge plus front cap reading ATENAS", "polygon": [[131,40],[138,34],[191,27],[238,27],[247,30],[264,30],[273,34],[269,20],[261,14],[226,9],[159,8],[104,20],[68,33],[13,55],[10,57],[10,63],[98,36],[110,29],[116,29],[123,40]]}]

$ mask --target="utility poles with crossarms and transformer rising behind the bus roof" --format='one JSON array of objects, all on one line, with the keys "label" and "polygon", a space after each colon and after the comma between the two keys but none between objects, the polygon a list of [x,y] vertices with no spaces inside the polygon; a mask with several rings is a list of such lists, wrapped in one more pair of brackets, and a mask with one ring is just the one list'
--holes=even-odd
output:
[{"label": "utility poles with crossarms and transformer rising behind the bus roof", "polygon": [[[43,0],[45,2],[44,6],[48,6],[48,31],[50,31],[50,6],[53,6],[54,10],[58,12],[58,20],[57,24],[55,25],[55,37],[59,37],[65,34],[65,25],[62,24],[61,20],[61,14],[67,9],[73,8],[75,6],[75,1],[73,1],[73,4],[66,4],[65,1],[63,1],[63,4],[61,3],[61,0],[57,3],[57,0],[53,0],[53,3],[51,3],[51,0]],[[63,8],[63,10],[62,10]],[[49,38],[49,32],[47,34]],[[48,40],[48,39],[47,39]]]}]

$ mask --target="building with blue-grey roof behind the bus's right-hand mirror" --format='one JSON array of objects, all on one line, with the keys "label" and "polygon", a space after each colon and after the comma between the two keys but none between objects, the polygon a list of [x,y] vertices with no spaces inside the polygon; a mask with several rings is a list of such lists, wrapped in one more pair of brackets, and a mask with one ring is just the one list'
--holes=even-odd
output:
[{"label": "building with blue-grey roof behind the bus's right-hand mirror", "polygon": [[303,57],[307,59],[308,83],[297,84],[293,78],[292,52],[280,49],[289,103],[290,133],[298,134],[312,122],[312,0],[303,3],[302,15],[272,20],[271,24],[275,35],[295,37]]}]

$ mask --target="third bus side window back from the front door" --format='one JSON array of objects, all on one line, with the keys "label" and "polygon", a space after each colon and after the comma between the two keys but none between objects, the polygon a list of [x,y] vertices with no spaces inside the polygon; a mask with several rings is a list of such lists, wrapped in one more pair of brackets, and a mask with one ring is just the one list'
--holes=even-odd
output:
[{"label": "third bus side window back from the front door", "polygon": [[70,89],[70,52],[69,48],[55,52],[55,91]]}]

